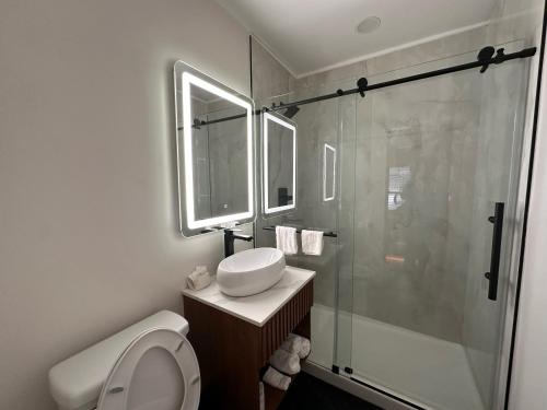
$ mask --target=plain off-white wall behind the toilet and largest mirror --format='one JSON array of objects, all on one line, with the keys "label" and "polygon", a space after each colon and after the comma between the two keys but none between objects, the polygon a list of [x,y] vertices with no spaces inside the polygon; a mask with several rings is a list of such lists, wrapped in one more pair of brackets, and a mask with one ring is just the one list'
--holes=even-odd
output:
[{"label": "plain off-white wall behind the toilet and largest mirror", "polygon": [[247,51],[210,0],[0,2],[1,409],[54,409],[53,364],[221,259],[176,232],[172,67],[248,95]]}]

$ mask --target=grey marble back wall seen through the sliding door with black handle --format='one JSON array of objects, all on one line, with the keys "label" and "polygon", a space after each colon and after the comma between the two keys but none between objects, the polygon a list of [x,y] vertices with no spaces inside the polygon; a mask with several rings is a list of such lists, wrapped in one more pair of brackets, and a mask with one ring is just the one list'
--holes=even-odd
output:
[{"label": "grey marble back wall seen through the sliding door with black handle", "polygon": [[354,313],[461,341],[476,90],[464,74],[358,99],[356,200],[341,204],[356,219]]}]

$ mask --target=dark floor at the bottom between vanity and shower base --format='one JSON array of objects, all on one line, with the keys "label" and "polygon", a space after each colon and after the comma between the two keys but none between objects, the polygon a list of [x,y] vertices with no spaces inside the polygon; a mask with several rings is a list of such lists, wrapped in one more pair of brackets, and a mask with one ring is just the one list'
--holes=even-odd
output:
[{"label": "dark floor at the bottom between vanity and shower base", "polygon": [[291,383],[278,410],[381,410],[306,373]]}]

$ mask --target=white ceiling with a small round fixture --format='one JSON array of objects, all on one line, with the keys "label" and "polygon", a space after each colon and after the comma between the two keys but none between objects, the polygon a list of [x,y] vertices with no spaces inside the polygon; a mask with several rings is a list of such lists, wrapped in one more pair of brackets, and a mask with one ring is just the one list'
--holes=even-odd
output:
[{"label": "white ceiling with a small round fixture", "polygon": [[[294,75],[485,23],[497,0],[217,0]],[[370,34],[357,25],[375,15]]]}]

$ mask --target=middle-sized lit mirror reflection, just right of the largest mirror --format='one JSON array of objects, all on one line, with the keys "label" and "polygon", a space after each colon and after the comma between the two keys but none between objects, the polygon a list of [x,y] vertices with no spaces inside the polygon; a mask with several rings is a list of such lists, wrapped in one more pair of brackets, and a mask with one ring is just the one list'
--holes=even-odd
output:
[{"label": "middle-sized lit mirror reflection, just right of the largest mirror", "polygon": [[263,114],[264,213],[296,207],[296,125],[274,113]]}]

